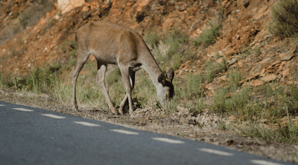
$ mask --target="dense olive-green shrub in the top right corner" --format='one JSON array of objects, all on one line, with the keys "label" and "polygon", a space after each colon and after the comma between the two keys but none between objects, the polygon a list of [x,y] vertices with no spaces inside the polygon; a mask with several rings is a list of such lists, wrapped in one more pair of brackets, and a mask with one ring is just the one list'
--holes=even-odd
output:
[{"label": "dense olive-green shrub in the top right corner", "polygon": [[298,1],[279,0],[271,7],[271,22],[268,31],[276,36],[297,37]]}]

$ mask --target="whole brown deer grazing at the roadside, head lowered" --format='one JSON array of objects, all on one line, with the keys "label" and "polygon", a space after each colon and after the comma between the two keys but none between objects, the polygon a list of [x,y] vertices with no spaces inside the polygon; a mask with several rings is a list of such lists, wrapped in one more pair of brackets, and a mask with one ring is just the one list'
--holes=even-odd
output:
[{"label": "whole brown deer grazing at the roadside, head lowered", "polygon": [[78,110],[76,83],[80,70],[92,54],[97,60],[96,82],[102,91],[110,111],[118,114],[104,84],[108,64],[118,65],[126,94],[120,103],[119,113],[128,99],[129,115],[133,116],[131,91],[134,88],[135,72],[141,68],[149,74],[162,106],[175,95],[172,80],[173,68],[166,75],[159,68],[142,36],[134,30],[110,22],[91,21],[76,31],[77,64],[73,70],[73,110]]}]

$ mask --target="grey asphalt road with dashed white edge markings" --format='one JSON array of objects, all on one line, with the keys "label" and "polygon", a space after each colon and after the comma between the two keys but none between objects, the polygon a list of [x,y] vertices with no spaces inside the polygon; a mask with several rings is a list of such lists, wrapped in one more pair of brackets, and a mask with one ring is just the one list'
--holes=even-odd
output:
[{"label": "grey asphalt road with dashed white edge markings", "polygon": [[293,164],[0,102],[0,164]]}]

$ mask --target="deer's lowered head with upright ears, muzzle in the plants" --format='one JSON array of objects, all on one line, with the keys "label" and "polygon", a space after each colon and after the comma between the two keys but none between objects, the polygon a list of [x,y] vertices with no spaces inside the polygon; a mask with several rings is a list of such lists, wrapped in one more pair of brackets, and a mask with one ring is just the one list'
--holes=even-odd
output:
[{"label": "deer's lowered head with upright ears, muzzle in the plants", "polygon": [[168,99],[172,99],[175,95],[174,86],[172,84],[172,80],[174,78],[174,70],[171,68],[166,76],[164,74],[160,74],[158,76],[158,88],[157,90],[157,98],[162,105],[166,103]]}]

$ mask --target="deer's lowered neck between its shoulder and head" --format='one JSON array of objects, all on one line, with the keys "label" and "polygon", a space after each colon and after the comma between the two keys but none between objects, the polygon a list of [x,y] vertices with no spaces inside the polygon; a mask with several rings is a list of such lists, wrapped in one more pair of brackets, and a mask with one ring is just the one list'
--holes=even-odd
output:
[{"label": "deer's lowered neck between its shoulder and head", "polygon": [[157,62],[155,61],[154,57],[152,56],[151,52],[148,52],[146,58],[143,59],[143,68],[149,74],[154,86],[157,88],[158,84],[158,76],[163,74],[161,68],[159,68]]}]

